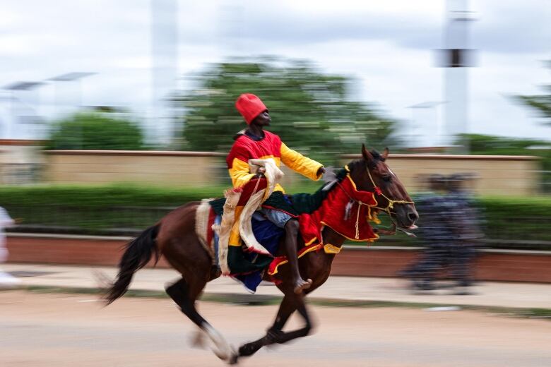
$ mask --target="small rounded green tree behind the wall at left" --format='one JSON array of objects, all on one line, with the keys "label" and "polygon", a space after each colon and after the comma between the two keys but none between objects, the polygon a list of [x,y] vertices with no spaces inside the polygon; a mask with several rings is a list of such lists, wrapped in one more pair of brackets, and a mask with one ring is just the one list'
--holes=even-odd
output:
[{"label": "small rounded green tree behind the wall at left", "polygon": [[81,112],[54,124],[50,150],[144,150],[143,133],[134,122],[100,112]]}]

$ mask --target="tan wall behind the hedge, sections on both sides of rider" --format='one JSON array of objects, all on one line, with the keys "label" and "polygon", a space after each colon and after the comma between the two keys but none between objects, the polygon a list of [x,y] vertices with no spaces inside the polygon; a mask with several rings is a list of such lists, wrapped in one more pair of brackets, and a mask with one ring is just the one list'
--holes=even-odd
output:
[{"label": "tan wall behind the hedge, sections on both sides of rider", "polygon": [[[155,185],[230,185],[225,155],[214,152],[149,152],[109,150],[52,150],[45,152],[43,178],[50,183],[140,182]],[[343,156],[342,163],[357,158]],[[389,167],[410,192],[422,191],[422,174],[478,174],[478,193],[527,195],[538,192],[540,163],[537,157],[472,155],[391,155]],[[300,175],[284,168],[284,186]]]}]

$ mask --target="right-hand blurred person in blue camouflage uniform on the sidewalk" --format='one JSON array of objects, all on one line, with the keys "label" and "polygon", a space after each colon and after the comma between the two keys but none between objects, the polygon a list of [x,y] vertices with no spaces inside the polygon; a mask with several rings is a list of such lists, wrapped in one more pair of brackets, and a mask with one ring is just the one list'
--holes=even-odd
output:
[{"label": "right-hand blurred person in blue camouflage uniform on the sidewalk", "polygon": [[456,222],[458,238],[450,253],[451,277],[459,290],[456,294],[470,294],[468,287],[473,284],[473,260],[478,243],[482,241],[482,215],[468,191],[466,183],[476,179],[472,174],[452,174],[448,177],[446,201],[460,217]]}]

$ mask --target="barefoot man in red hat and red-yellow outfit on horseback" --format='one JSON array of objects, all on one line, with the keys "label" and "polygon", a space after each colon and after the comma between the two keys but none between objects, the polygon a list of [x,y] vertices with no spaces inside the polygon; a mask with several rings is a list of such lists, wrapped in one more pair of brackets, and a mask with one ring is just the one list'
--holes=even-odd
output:
[{"label": "barefoot man in red hat and red-yellow outfit on horseback", "polygon": [[[256,174],[250,172],[248,162],[251,159],[272,158],[278,167],[280,162],[283,162],[293,171],[315,181],[324,174],[323,164],[289,149],[279,136],[264,130],[265,126],[270,126],[271,118],[268,109],[259,97],[249,93],[242,94],[235,102],[235,107],[249,126],[237,133],[235,143],[226,158],[227,169],[230,172],[234,188],[242,187],[251,179],[259,178],[263,174],[262,167]],[[275,186],[275,191],[283,192],[283,188],[278,184]],[[312,285],[312,279],[306,281],[302,279],[297,261],[299,222],[296,218],[280,210],[263,207],[261,212],[270,222],[285,229],[285,250],[291,266],[295,293],[308,289]]]}]

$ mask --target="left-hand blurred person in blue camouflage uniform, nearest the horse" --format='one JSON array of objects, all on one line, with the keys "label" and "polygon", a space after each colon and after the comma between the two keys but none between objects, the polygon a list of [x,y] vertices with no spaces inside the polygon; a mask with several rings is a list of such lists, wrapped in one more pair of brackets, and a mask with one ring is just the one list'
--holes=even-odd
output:
[{"label": "left-hand blurred person in blue camouflage uniform, nearest the horse", "polygon": [[428,191],[415,200],[419,212],[419,228],[415,231],[424,249],[417,263],[399,274],[412,280],[416,290],[434,289],[434,278],[449,263],[451,248],[459,238],[458,207],[449,205],[444,193],[446,177],[432,174],[427,177]]}]

